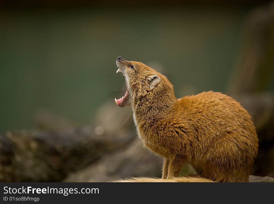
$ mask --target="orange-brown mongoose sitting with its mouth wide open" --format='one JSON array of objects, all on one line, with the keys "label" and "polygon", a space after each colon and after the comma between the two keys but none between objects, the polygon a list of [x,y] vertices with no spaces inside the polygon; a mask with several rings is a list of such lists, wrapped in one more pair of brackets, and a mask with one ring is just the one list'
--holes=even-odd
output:
[{"label": "orange-brown mongoose sitting with its mouth wide open", "polygon": [[125,96],[139,138],[164,158],[163,179],[177,177],[190,163],[216,182],[248,182],[258,138],[248,112],[233,98],[213,91],[177,99],[169,80],[141,62],[117,57],[125,76]]}]

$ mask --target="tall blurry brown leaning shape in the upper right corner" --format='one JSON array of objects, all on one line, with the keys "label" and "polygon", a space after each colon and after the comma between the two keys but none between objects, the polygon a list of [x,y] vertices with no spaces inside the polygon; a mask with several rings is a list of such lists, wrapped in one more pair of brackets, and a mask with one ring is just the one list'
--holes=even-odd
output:
[{"label": "tall blurry brown leaning shape in the upper right corner", "polygon": [[229,86],[229,95],[263,92],[271,82],[274,3],[250,12],[244,26],[242,48]]}]

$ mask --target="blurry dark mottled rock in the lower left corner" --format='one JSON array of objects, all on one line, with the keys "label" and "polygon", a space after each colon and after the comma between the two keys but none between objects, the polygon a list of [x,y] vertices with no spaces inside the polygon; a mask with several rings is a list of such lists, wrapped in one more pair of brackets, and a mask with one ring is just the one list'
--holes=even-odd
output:
[{"label": "blurry dark mottled rock in the lower left corner", "polygon": [[0,181],[61,181],[135,134],[95,135],[92,128],[13,131],[0,139]]}]

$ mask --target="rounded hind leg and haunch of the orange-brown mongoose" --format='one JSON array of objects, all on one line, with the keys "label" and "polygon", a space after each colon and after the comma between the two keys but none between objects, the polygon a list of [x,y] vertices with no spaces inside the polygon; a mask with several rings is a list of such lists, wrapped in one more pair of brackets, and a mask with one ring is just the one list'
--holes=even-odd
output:
[{"label": "rounded hind leg and haunch of the orange-brown mongoose", "polygon": [[213,140],[200,162],[205,178],[217,182],[248,182],[256,144],[241,131],[226,132]]}]

